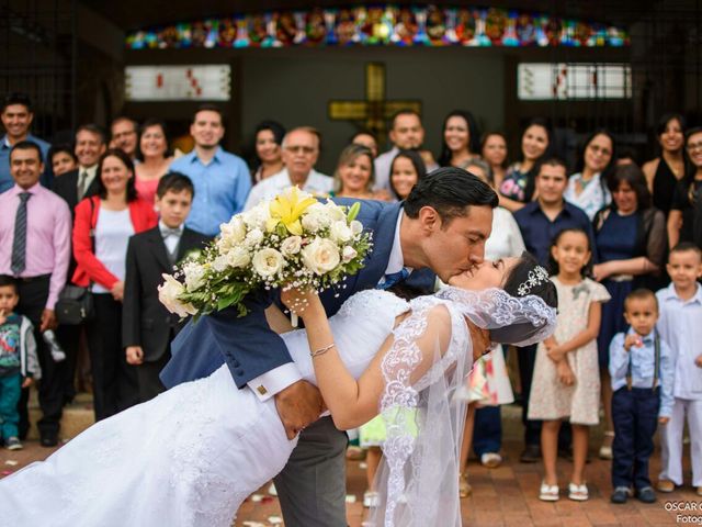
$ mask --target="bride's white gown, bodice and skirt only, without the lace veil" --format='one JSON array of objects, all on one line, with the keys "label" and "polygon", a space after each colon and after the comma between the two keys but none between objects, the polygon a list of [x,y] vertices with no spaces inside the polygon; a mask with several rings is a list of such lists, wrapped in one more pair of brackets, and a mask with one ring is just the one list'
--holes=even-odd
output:
[{"label": "bride's white gown, bodice and skirt only, without the lace veil", "polygon": [[[330,318],[354,378],[409,304],[364,291]],[[304,330],[283,335],[314,382]],[[223,526],[285,466],[287,440],[273,399],[238,390],[226,366],[102,421],[44,462],[0,480],[0,525]]]}]

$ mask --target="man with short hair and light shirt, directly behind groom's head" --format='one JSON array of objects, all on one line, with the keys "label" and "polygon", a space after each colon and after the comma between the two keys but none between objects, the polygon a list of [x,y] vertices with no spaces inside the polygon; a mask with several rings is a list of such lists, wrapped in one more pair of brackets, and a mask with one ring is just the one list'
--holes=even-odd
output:
[{"label": "man with short hair and light shirt, directly behind groom's head", "polygon": [[[375,158],[375,190],[390,190],[390,165],[399,150],[416,150],[424,142],[421,117],[414,110],[400,110],[393,117],[389,133],[393,148]],[[438,168],[428,166],[427,172]]]}]

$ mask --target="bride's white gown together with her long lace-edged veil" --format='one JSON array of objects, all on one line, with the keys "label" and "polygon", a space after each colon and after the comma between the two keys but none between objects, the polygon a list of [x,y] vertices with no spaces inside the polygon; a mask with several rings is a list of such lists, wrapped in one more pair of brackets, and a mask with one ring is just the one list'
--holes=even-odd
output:
[{"label": "bride's white gown together with her long lace-edged veil", "polygon": [[[456,294],[466,293],[453,290],[452,299],[426,296],[410,304],[384,291],[363,291],[330,318],[339,354],[356,379],[395,335],[381,366],[386,386],[378,407],[389,417],[377,525],[439,525],[437,518],[461,525],[457,449],[465,406],[451,406],[450,399],[472,362],[465,323],[472,315],[465,305],[457,307]],[[424,314],[437,304],[451,314],[450,344],[410,385],[421,360],[416,341],[427,329]],[[412,314],[394,329],[410,305]],[[480,305],[483,313],[495,307]],[[485,316],[472,319],[489,324]],[[283,338],[303,377],[315,382],[304,330]],[[410,415],[418,423],[405,426],[407,413],[398,407],[416,408]],[[0,480],[0,525],[229,527],[241,502],[283,469],[295,445],[273,399],[261,403],[249,389],[238,390],[223,366],[97,423],[46,461]]]}]

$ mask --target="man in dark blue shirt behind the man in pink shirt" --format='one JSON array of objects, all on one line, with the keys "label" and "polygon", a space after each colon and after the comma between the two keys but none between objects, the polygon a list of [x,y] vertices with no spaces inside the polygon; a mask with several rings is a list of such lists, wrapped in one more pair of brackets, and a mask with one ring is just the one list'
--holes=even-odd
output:
[{"label": "man in dark blue shirt behind the man in pink shirt", "polygon": [[39,182],[50,189],[53,179],[52,162],[46,159],[46,155],[52,145],[30,134],[30,127],[34,119],[30,98],[24,93],[8,94],[2,101],[0,119],[2,119],[2,126],[7,132],[0,138],[0,193],[14,187],[14,179],[10,175],[10,150],[13,145],[22,141],[31,141],[39,147],[45,167]]}]

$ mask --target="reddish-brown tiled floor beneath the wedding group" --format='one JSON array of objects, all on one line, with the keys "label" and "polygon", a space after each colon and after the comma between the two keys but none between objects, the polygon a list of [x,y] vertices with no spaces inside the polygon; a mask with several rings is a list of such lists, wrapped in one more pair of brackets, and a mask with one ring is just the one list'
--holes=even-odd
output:
[{"label": "reddish-brown tiled floor beneath the wedding group", "polygon": [[[516,406],[508,407],[505,412],[505,463],[492,470],[485,469],[475,461],[469,466],[473,496],[462,503],[464,525],[473,527],[702,525],[702,496],[697,496],[690,486],[671,494],[658,494],[658,503],[653,505],[645,505],[635,500],[625,505],[610,504],[610,464],[595,456],[587,468],[590,501],[576,503],[566,497],[562,497],[556,503],[539,501],[536,495],[542,474],[541,464],[522,464],[518,461],[521,449],[521,425],[518,412],[519,408]],[[599,430],[592,433],[591,451],[593,453],[599,446]],[[44,459],[54,450],[42,448],[32,441],[26,442],[25,447],[19,452],[0,449],[0,478],[32,461]],[[686,448],[686,456],[687,452]],[[652,475],[658,473],[659,464],[658,452],[656,452],[652,460]],[[568,470],[568,463],[561,460],[562,489],[567,484]],[[686,478],[689,482],[689,462],[686,462]],[[349,503],[347,508],[351,527],[360,527],[364,519],[365,512],[361,504],[364,490],[364,470],[358,461],[349,462],[348,492],[356,500],[355,503]],[[688,509],[683,512],[670,511],[673,504],[687,506]],[[678,514],[684,517],[677,518]],[[700,517],[694,518],[694,516]],[[276,525],[276,517],[280,518],[278,498],[268,496],[265,490],[262,489],[256,500],[249,498],[244,504],[236,525],[268,527]]]}]

